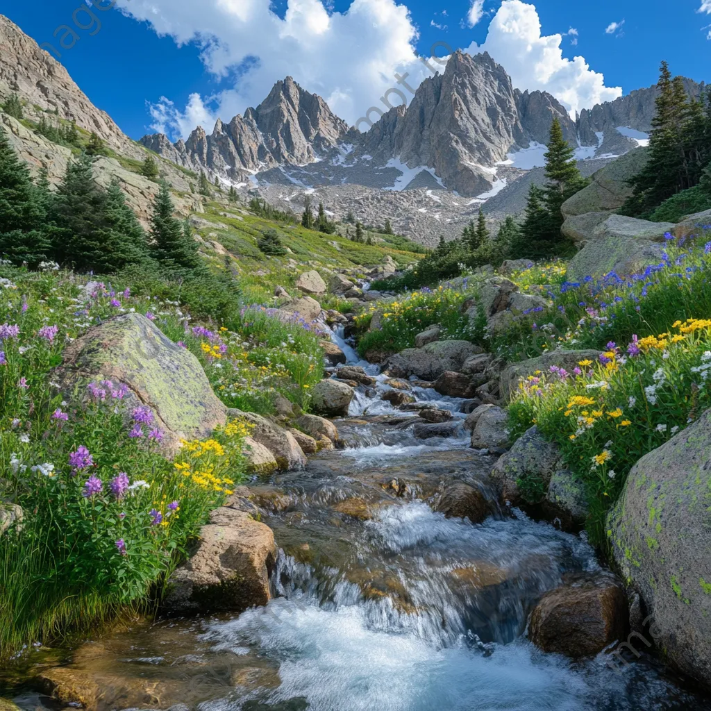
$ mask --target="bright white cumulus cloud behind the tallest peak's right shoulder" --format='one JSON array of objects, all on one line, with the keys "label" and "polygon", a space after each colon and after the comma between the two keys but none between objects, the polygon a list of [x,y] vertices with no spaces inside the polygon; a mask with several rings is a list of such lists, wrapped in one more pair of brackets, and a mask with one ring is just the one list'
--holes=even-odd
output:
[{"label": "bright white cumulus cloud behind the tallest peak's right shoulder", "polygon": [[535,6],[504,0],[486,41],[481,46],[473,42],[466,51],[488,52],[506,68],[515,87],[547,91],[571,113],[622,95],[621,87],[606,87],[603,75],[583,57],[564,58],[561,42],[562,34],[541,35]]}]

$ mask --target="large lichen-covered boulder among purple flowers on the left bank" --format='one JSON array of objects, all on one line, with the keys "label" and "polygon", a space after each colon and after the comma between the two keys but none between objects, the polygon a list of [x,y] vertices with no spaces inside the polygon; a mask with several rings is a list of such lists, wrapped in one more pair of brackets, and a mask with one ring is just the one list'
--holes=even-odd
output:
[{"label": "large lichen-covered boulder among purple flowers on the left bank", "polygon": [[198,359],[141,314],[90,328],[65,348],[57,377],[63,392],[74,397],[84,397],[87,384],[97,379],[127,385],[128,407],[151,409],[168,452],[181,439],[209,437],[227,419]]}]

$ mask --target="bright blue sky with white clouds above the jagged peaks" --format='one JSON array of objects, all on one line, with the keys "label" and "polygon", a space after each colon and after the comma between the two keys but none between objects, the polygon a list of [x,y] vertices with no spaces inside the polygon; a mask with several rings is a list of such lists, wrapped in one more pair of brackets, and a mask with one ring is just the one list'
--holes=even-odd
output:
[{"label": "bright blue sky with white clouds above the jagged peaks", "polygon": [[[476,51],[492,20],[492,27],[498,22],[504,29],[492,34],[486,48],[491,46],[514,85],[546,88],[572,109],[595,97],[612,97],[612,87],[627,93],[652,84],[662,59],[673,73],[711,80],[711,0],[677,0],[673,9],[661,0],[539,0],[525,7],[514,0],[508,3],[508,24],[501,0],[484,0],[483,6],[474,1],[479,7],[472,17],[469,0],[407,0],[409,14],[395,0],[355,0],[356,18],[355,12],[347,14],[351,0],[333,0],[324,14],[316,6],[320,0],[275,0],[274,18],[267,14],[268,0],[226,0],[228,16],[225,1],[119,0],[126,14],[118,9],[97,12],[100,31],[91,36],[94,28],[75,28],[80,39],[66,50],[59,49],[53,33],[62,24],[73,26],[77,0],[15,3],[2,12],[38,43],[54,43],[61,62],[92,102],[134,138],[151,132],[151,124],[171,137],[187,134],[197,122],[209,131],[217,115],[229,120],[259,102],[286,73],[324,95],[337,113],[354,122],[368,105],[378,105],[387,87],[395,86],[392,74],[398,67],[410,72],[413,84],[427,76],[408,49],[410,43],[419,54],[429,54],[435,42]],[[289,3],[297,12],[287,23]],[[530,24],[535,14],[541,47],[558,46],[562,53],[550,80],[543,65],[537,73],[529,70],[535,56],[529,60],[520,55],[520,38],[518,44],[507,44],[513,41],[512,31],[530,30],[520,26],[524,20]],[[471,18],[478,18],[474,26]],[[612,23],[617,26],[611,28]],[[156,28],[172,36],[160,37]],[[565,34],[571,28],[577,33]],[[193,31],[217,36],[219,45],[201,53],[191,41]],[[282,31],[289,36],[275,38]],[[556,33],[563,35],[560,41],[550,40]],[[282,48],[284,56],[279,55]],[[567,62],[575,56],[584,57],[589,71]],[[604,83],[592,73],[604,75]]]}]

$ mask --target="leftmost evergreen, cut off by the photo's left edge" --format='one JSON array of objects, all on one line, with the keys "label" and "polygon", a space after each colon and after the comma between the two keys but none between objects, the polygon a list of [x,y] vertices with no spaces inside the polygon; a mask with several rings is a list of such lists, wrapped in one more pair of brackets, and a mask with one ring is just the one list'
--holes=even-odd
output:
[{"label": "leftmost evergreen, cut off by the photo's left edge", "polygon": [[48,193],[46,173],[34,185],[0,128],[0,257],[30,267],[49,258]]}]

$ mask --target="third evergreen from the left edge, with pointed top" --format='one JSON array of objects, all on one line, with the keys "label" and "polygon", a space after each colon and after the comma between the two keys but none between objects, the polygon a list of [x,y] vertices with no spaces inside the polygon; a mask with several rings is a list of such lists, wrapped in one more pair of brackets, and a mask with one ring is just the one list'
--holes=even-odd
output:
[{"label": "third evergreen from the left edge, with pointed top", "polygon": [[118,178],[113,178],[106,193],[104,220],[101,229],[103,252],[93,267],[110,274],[129,264],[140,264],[148,258],[146,233],[126,198]]}]

